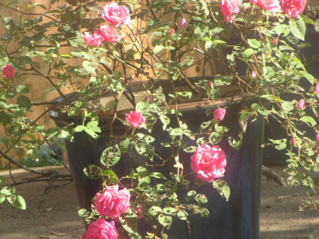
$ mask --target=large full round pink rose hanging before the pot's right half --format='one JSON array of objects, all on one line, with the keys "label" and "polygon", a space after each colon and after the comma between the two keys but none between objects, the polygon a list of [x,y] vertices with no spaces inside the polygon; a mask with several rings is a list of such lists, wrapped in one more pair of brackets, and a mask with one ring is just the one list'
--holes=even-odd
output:
[{"label": "large full round pink rose hanging before the pot's right half", "polygon": [[226,155],[217,145],[212,147],[206,144],[196,147],[196,152],[191,156],[191,169],[197,177],[206,182],[212,182],[222,177],[225,172]]}]

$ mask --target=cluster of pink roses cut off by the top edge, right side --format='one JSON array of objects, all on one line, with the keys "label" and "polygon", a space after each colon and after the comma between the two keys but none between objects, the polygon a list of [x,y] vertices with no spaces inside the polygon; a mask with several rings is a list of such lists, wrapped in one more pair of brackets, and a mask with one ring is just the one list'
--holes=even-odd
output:
[{"label": "cluster of pink roses cut off by the top edge, right side", "polygon": [[[252,3],[259,6],[259,8],[277,13],[287,14],[296,17],[303,12],[306,6],[306,0],[251,0]],[[222,0],[220,8],[222,10],[224,21],[232,22],[236,13],[239,12],[241,0]]]}]

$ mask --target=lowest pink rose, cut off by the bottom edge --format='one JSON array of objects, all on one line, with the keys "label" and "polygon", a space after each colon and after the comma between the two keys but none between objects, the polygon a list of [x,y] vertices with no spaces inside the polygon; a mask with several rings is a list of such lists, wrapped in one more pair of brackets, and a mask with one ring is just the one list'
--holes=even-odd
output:
[{"label": "lowest pink rose, cut off by the bottom edge", "polygon": [[107,222],[101,218],[94,221],[86,232],[86,239],[118,239],[118,231],[114,222]]}]

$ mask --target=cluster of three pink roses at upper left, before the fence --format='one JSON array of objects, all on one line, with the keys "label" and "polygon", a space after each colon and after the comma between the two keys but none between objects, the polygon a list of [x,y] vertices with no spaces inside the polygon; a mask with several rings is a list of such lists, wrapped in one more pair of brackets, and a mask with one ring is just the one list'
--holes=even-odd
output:
[{"label": "cluster of three pink roses at upper left, before the fence", "polygon": [[94,33],[84,33],[84,41],[87,45],[98,47],[105,40],[107,43],[116,43],[121,40],[121,35],[114,27],[120,24],[130,24],[130,14],[125,6],[118,6],[116,3],[110,3],[103,7],[102,17],[111,23],[113,26],[104,25],[99,30],[94,30]]}]

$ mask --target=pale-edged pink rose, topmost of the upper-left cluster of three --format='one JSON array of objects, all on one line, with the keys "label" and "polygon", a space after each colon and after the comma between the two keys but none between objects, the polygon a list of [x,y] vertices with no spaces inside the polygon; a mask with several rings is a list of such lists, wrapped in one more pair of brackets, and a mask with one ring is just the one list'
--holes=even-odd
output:
[{"label": "pale-edged pink rose, topmost of the upper-left cluster of three", "polygon": [[130,13],[128,9],[125,8],[125,6],[118,6],[116,3],[110,3],[104,6],[102,17],[114,26],[130,24]]}]

